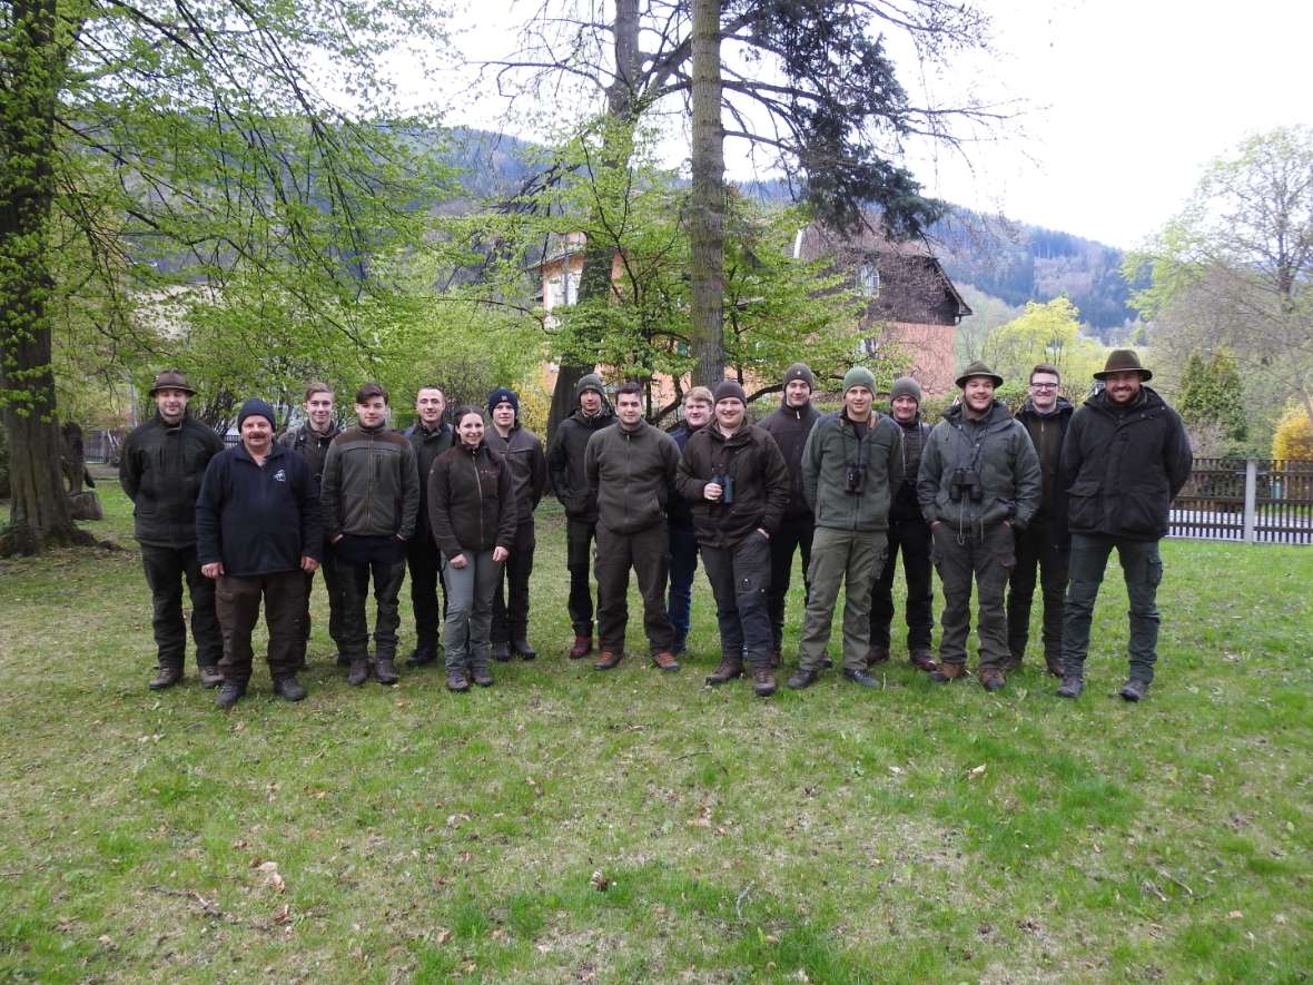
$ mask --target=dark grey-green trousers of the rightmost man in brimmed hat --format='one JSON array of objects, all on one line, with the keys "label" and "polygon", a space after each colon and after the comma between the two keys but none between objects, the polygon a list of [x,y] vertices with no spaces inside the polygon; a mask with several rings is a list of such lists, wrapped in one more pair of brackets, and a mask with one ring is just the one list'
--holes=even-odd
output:
[{"label": "dark grey-green trousers of the rightmost man in brimmed hat", "polygon": [[1071,535],[1071,565],[1066,605],[1062,620],[1062,671],[1083,676],[1085,657],[1090,650],[1090,619],[1099,584],[1108,565],[1108,556],[1117,549],[1121,574],[1130,596],[1130,678],[1153,680],[1158,659],[1158,584],[1162,582],[1162,558],[1158,541]]}]

